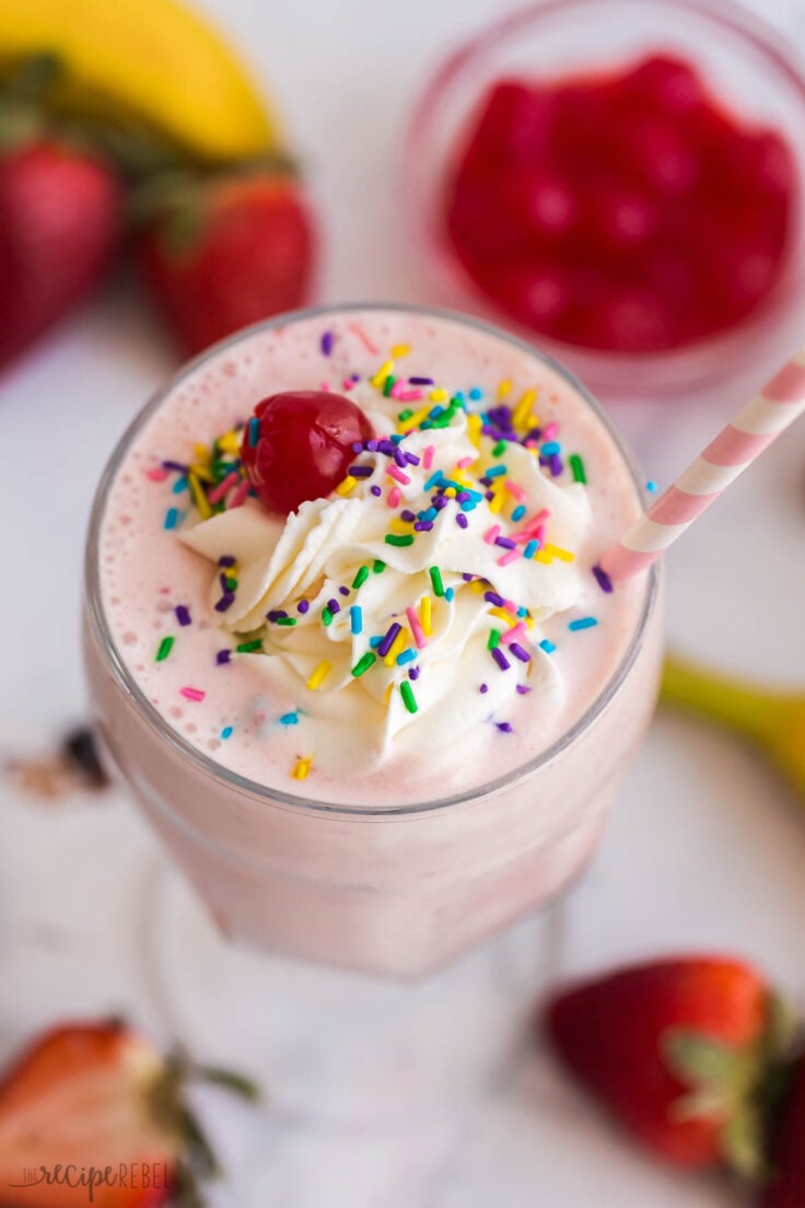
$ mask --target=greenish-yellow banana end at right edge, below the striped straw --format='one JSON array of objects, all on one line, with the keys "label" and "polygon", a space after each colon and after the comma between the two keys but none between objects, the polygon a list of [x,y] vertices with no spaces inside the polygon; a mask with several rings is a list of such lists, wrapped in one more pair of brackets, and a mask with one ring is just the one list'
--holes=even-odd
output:
[{"label": "greenish-yellow banana end at right edge, below the striped straw", "polygon": [[777,692],[670,656],[660,701],[748,741],[782,772],[805,812],[805,693]]}]

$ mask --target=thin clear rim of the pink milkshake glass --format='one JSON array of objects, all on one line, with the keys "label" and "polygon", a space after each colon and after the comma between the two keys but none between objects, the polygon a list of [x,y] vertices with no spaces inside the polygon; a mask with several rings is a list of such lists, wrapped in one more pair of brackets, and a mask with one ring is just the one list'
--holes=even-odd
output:
[{"label": "thin clear rim of the pink milkshake glass", "polygon": [[127,698],[136,707],[140,716],[154,736],[173,747],[180,756],[188,759],[205,776],[211,777],[227,788],[235,789],[240,794],[266,801],[269,805],[279,805],[298,811],[310,811],[313,813],[329,815],[340,814],[371,819],[372,817],[426,814],[447,809],[450,806],[457,806],[494,796],[500,791],[511,788],[515,783],[530,778],[538,768],[550,763],[561,751],[572,745],[572,743],[574,743],[603,713],[609,702],[618,693],[619,689],[626,680],[629,672],[631,670],[657,605],[659,594],[659,564],[654,563],[647,575],[647,588],[643,598],[643,605],[629,645],[626,646],[620,662],[605,684],[603,689],[594,697],[588,708],[576,719],[572,726],[564,731],[559,738],[550,744],[550,747],[541,751],[537,756],[535,756],[535,759],[518,765],[518,767],[512,768],[503,776],[485,780],[473,788],[450,794],[445,797],[408,803],[391,802],[389,805],[355,806],[343,802],[316,801],[310,800],[307,796],[285,792],[281,789],[270,788],[266,784],[261,784],[258,780],[251,780],[247,777],[240,776],[240,773],[218,763],[211,756],[205,755],[198,747],[194,747],[193,743],[188,742],[170,725],[170,722],[159,713],[151,701],[148,701],[147,696],[138,684],[136,676],[128,667],[126,660],[121,655],[121,651],[117,649],[109,627],[100,591],[99,538],[110,488],[117,477],[117,472],[133,441],[138,437],[142,428],[148,423],[151,417],[157,412],[165,399],[168,399],[174,390],[179,389],[187,381],[187,378],[192,373],[197,372],[204,364],[220,356],[224,350],[231,349],[233,345],[239,344],[244,339],[256,336],[259,332],[272,331],[275,327],[284,327],[291,323],[301,320],[315,318],[325,319],[338,314],[356,313],[361,310],[392,312],[398,314],[414,313],[424,316],[431,316],[434,320],[448,320],[457,325],[469,326],[485,332],[486,335],[494,336],[497,339],[502,339],[506,343],[514,344],[517,348],[536,358],[543,365],[547,365],[556,372],[566,384],[578,393],[579,397],[583,399],[597,420],[603,425],[629,472],[637,498],[644,501],[643,478],[640,472],[638,464],[622,440],[620,435],[613,428],[601,405],[578,381],[578,378],[571,373],[570,370],[567,370],[550,354],[543,353],[541,349],[536,348],[527,339],[512,335],[511,332],[507,332],[494,324],[486,323],[483,319],[476,319],[473,315],[441,309],[438,307],[420,306],[418,303],[346,302],[342,304],[329,303],[305,307],[298,310],[285,312],[284,314],[252,324],[249,327],[243,327],[234,335],[212,344],[198,356],[194,356],[192,360],[182,365],[182,367],[174,373],[168,382],[165,382],[154,394],[151,395],[147,402],[136,413],[132,423],[127,426],[123,435],[117,441],[109,460],[106,461],[93,499],[87,528],[87,542],[84,547],[84,608],[92,622],[93,635],[98,639],[107,669],[111,672],[117,686],[123,690]]}]

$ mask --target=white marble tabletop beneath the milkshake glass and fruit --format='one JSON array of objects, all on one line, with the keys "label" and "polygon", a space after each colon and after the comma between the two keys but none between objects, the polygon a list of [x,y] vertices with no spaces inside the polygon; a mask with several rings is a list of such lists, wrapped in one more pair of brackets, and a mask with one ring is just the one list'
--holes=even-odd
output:
[{"label": "white marble tabletop beneath the milkshake glass and fruit", "polygon": [[[226,18],[284,100],[325,216],[323,297],[427,300],[397,238],[398,135],[428,66],[490,17],[495,0],[408,0],[404,11],[364,0],[206,7]],[[805,36],[799,2],[765,7]],[[93,486],[113,440],[171,365],[124,286],[0,382],[2,753],[36,754],[82,716],[77,620]],[[647,472],[665,482],[728,410],[724,399],[623,407],[618,418]],[[675,645],[805,683],[805,426],[669,561]],[[161,1036],[181,1028],[173,998],[191,974],[171,971],[170,943],[181,947],[182,918],[196,934],[192,906],[124,795],[48,807],[4,784],[0,836],[0,1058],[37,1026],[70,1015],[123,1011]],[[177,920],[173,939],[161,902]],[[602,1126],[529,1043],[525,1021],[546,976],[663,949],[731,948],[805,997],[804,914],[805,829],[787,791],[730,742],[660,716],[600,856],[546,923],[521,924],[414,992],[281,962],[264,975],[252,970],[273,988],[259,1000],[268,1049],[256,1057],[274,1062],[273,1097],[257,1119],[210,1104],[238,1172],[237,1189],[222,1189],[218,1202],[727,1208],[718,1185],[669,1175]],[[257,1009],[243,1003],[239,1014],[253,1024]],[[187,1030],[215,1047],[192,1018]],[[378,1114],[389,1069],[373,1062],[401,1045],[422,1070],[422,1103]],[[428,1085],[454,1082],[461,1093],[427,1098]]]}]

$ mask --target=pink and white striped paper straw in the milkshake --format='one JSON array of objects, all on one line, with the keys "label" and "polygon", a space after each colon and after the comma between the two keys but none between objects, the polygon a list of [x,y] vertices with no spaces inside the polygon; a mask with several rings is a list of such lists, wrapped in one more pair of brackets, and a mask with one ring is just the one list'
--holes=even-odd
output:
[{"label": "pink and white striped paper straw in the milkshake", "polygon": [[805,345],[601,558],[611,579],[646,570],[805,411]]}]

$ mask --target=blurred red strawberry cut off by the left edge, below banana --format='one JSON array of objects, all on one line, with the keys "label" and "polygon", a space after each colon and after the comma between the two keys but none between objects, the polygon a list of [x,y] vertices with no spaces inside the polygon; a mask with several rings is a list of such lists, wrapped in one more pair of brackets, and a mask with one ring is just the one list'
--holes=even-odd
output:
[{"label": "blurred red strawberry cut off by the left edge, below banana", "polygon": [[121,198],[99,158],[52,139],[0,158],[0,367],[100,283]]}]

